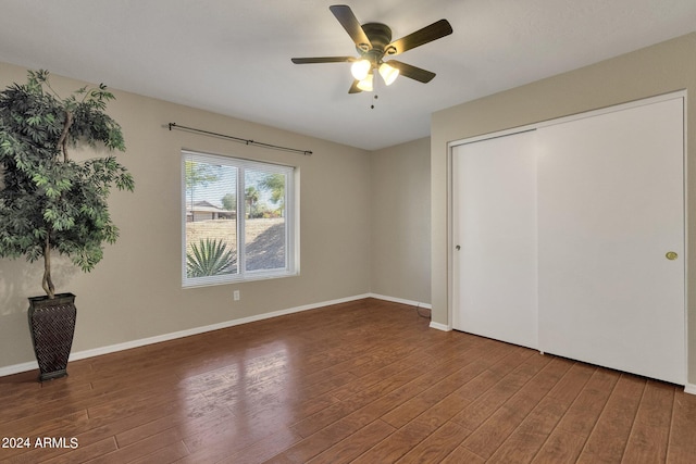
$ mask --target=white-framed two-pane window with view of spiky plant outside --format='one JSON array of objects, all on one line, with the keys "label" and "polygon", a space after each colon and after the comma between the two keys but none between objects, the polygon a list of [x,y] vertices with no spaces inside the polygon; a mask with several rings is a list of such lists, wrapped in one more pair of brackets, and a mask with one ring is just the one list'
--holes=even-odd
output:
[{"label": "white-framed two-pane window with view of spiky plant outside", "polygon": [[297,274],[295,168],[182,158],[184,287]]}]

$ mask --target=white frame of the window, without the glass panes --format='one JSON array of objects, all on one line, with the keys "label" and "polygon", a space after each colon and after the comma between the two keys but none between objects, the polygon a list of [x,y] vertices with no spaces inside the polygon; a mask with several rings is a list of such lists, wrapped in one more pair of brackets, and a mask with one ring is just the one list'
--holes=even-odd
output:
[{"label": "white frame of the window, without the glass panes", "polygon": [[[213,165],[225,165],[237,168],[237,273],[204,277],[188,277],[186,272],[186,161],[196,156],[197,161]],[[202,153],[182,150],[182,287],[192,288],[211,285],[234,284],[240,281],[281,278],[299,275],[299,170],[295,166],[245,160],[221,154]],[[245,243],[245,172],[260,170],[285,175],[285,267],[275,269],[246,269]]]}]

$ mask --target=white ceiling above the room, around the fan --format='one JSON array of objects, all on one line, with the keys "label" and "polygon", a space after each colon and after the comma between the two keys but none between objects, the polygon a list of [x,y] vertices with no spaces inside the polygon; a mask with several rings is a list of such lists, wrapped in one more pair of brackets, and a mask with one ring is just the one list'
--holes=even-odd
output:
[{"label": "white ceiling above the room, around the fan", "polygon": [[290,62],[357,54],[334,3],[0,0],[0,61],[373,150],[428,136],[435,111],[696,29],[695,0],[353,0],[394,39],[453,28],[399,55],[435,79],[400,77],[371,110],[349,63]]}]

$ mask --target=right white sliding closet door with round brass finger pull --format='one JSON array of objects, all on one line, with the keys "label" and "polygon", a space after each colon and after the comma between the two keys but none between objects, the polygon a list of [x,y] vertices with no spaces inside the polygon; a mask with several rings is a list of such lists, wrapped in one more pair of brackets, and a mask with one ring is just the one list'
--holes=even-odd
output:
[{"label": "right white sliding closet door with round brass finger pull", "polygon": [[539,350],[684,384],[683,99],[539,129]]}]

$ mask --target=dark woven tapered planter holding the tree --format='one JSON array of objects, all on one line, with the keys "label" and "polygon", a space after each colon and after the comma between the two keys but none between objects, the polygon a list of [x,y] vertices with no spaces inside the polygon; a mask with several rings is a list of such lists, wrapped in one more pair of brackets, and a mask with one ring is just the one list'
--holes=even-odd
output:
[{"label": "dark woven tapered planter holding the tree", "polygon": [[29,298],[29,328],[36,361],[41,372],[39,380],[67,375],[67,358],[75,334],[75,296],[60,293],[55,298]]}]

